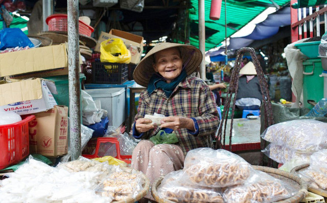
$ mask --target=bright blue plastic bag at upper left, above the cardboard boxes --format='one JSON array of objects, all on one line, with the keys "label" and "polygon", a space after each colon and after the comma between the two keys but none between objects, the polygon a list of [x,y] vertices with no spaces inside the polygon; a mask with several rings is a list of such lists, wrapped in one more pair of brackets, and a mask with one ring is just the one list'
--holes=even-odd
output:
[{"label": "bright blue plastic bag at upper left, above the cardboard boxes", "polygon": [[34,47],[31,40],[19,28],[5,28],[0,30],[0,50],[14,47]]}]

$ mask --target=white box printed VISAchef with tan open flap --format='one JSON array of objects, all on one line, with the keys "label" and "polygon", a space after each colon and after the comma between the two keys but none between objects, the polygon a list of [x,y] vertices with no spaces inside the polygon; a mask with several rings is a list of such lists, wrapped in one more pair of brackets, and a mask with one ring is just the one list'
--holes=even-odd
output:
[{"label": "white box printed VISAchef with tan open flap", "polygon": [[42,112],[57,105],[53,81],[34,78],[0,84],[0,110],[19,115]]}]

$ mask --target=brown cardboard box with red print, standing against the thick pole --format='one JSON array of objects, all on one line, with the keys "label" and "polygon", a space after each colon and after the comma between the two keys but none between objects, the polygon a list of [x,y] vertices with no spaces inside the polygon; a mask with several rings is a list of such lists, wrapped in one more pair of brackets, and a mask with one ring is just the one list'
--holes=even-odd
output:
[{"label": "brown cardboard box with red print, standing against the thick pole", "polygon": [[29,123],[30,153],[43,156],[67,154],[68,107],[55,106],[40,113]]}]

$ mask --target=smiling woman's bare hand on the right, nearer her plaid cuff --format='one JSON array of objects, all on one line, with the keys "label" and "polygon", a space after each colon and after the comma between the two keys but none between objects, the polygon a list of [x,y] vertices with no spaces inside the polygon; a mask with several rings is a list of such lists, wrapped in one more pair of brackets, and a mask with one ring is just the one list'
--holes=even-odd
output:
[{"label": "smiling woman's bare hand on the right, nearer her plaid cuff", "polygon": [[161,128],[170,128],[173,130],[178,130],[181,128],[186,128],[195,131],[194,122],[190,118],[185,117],[165,117],[161,119]]}]

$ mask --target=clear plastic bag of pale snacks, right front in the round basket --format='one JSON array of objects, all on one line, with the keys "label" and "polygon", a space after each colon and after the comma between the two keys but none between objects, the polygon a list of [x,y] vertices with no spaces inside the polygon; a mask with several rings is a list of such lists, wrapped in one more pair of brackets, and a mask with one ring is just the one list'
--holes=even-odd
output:
[{"label": "clear plastic bag of pale snacks, right front in the round basket", "polygon": [[293,196],[296,189],[291,185],[254,170],[252,176],[243,185],[230,187],[224,192],[227,203],[268,203]]}]

